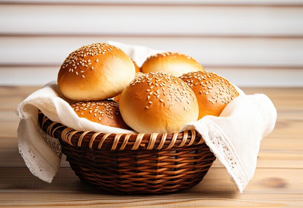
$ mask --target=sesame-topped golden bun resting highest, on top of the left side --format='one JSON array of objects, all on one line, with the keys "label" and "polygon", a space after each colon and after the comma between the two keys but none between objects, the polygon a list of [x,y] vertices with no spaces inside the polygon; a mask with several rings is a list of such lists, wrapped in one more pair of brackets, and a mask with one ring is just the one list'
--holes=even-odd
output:
[{"label": "sesame-topped golden bun resting highest, on top of the left side", "polygon": [[58,74],[63,96],[76,101],[112,98],[135,77],[132,60],[108,44],[85,45],[72,52]]}]

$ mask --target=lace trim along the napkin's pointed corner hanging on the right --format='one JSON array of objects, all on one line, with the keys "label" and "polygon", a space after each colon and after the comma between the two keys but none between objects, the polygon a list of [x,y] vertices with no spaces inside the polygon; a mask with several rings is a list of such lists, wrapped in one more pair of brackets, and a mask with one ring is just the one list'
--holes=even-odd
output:
[{"label": "lace trim along the napkin's pointed corner hanging on the right", "polygon": [[237,185],[240,193],[242,193],[248,184],[248,177],[236,150],[229,144],[227,136],[220,127],[211,120],[205,121],[208,127],[212,125],[212,132],[209,132],[209,137],[204,138],[205,143],[225,166],[230,179]]}]

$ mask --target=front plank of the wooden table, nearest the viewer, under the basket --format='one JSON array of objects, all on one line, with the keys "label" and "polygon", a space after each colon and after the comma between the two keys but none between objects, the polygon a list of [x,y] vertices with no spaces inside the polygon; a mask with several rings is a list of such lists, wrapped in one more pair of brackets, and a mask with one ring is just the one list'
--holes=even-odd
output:
[{"label": "front plank of the wooden table, nearest the viewer, under the basket", "polygon": [[303,205],[303,178],[301,177],[303,169],[257,169],[255,177],[244,193],[240,194],[228,179],[225,169],[211,168],[197,186],[180,193],[161,195],[98,193],[76,178],[70,168],[61,168],[51,184],[34,178],[26,168],[0,168],[0,170],[0,205],[2,206],[284,207]]}]

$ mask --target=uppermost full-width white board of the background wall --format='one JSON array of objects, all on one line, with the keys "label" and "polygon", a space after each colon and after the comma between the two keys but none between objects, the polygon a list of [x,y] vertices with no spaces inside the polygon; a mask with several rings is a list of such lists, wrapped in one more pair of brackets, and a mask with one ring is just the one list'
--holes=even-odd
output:
[{"label": "uppermost full-width white board of the background wall", "polygon": [[296,6],[3,4],[0,7],[2,34],[302,36],[302,22],[303,10]]}]

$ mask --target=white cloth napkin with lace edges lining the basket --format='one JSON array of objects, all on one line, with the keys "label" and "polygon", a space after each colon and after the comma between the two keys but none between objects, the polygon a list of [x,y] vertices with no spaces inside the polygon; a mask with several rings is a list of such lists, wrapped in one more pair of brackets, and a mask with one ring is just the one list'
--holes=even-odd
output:
[{"label": "white cloth napkin with lace edges lining the basket", "polygon": [[[121,48],[139,65],[159,52],[144,46],[108,43]],[[266,95],[245,95],[238,90],[240,96],[227,105],[220,117],[206,116],[185,124],[180,131],[196,129],[242,193],[254,175],[260,141],[273,131],[277,113]],[[77,117],[69,101],[61,96],[57,83],[48,83],[20,103],[16,113],[20,118],[19,151],[30,172],[49,183],[60,166],[61,146],[57,139],[42,132],[38,125],[38,109],[49,119],[76,130],[134,133]]]}]

